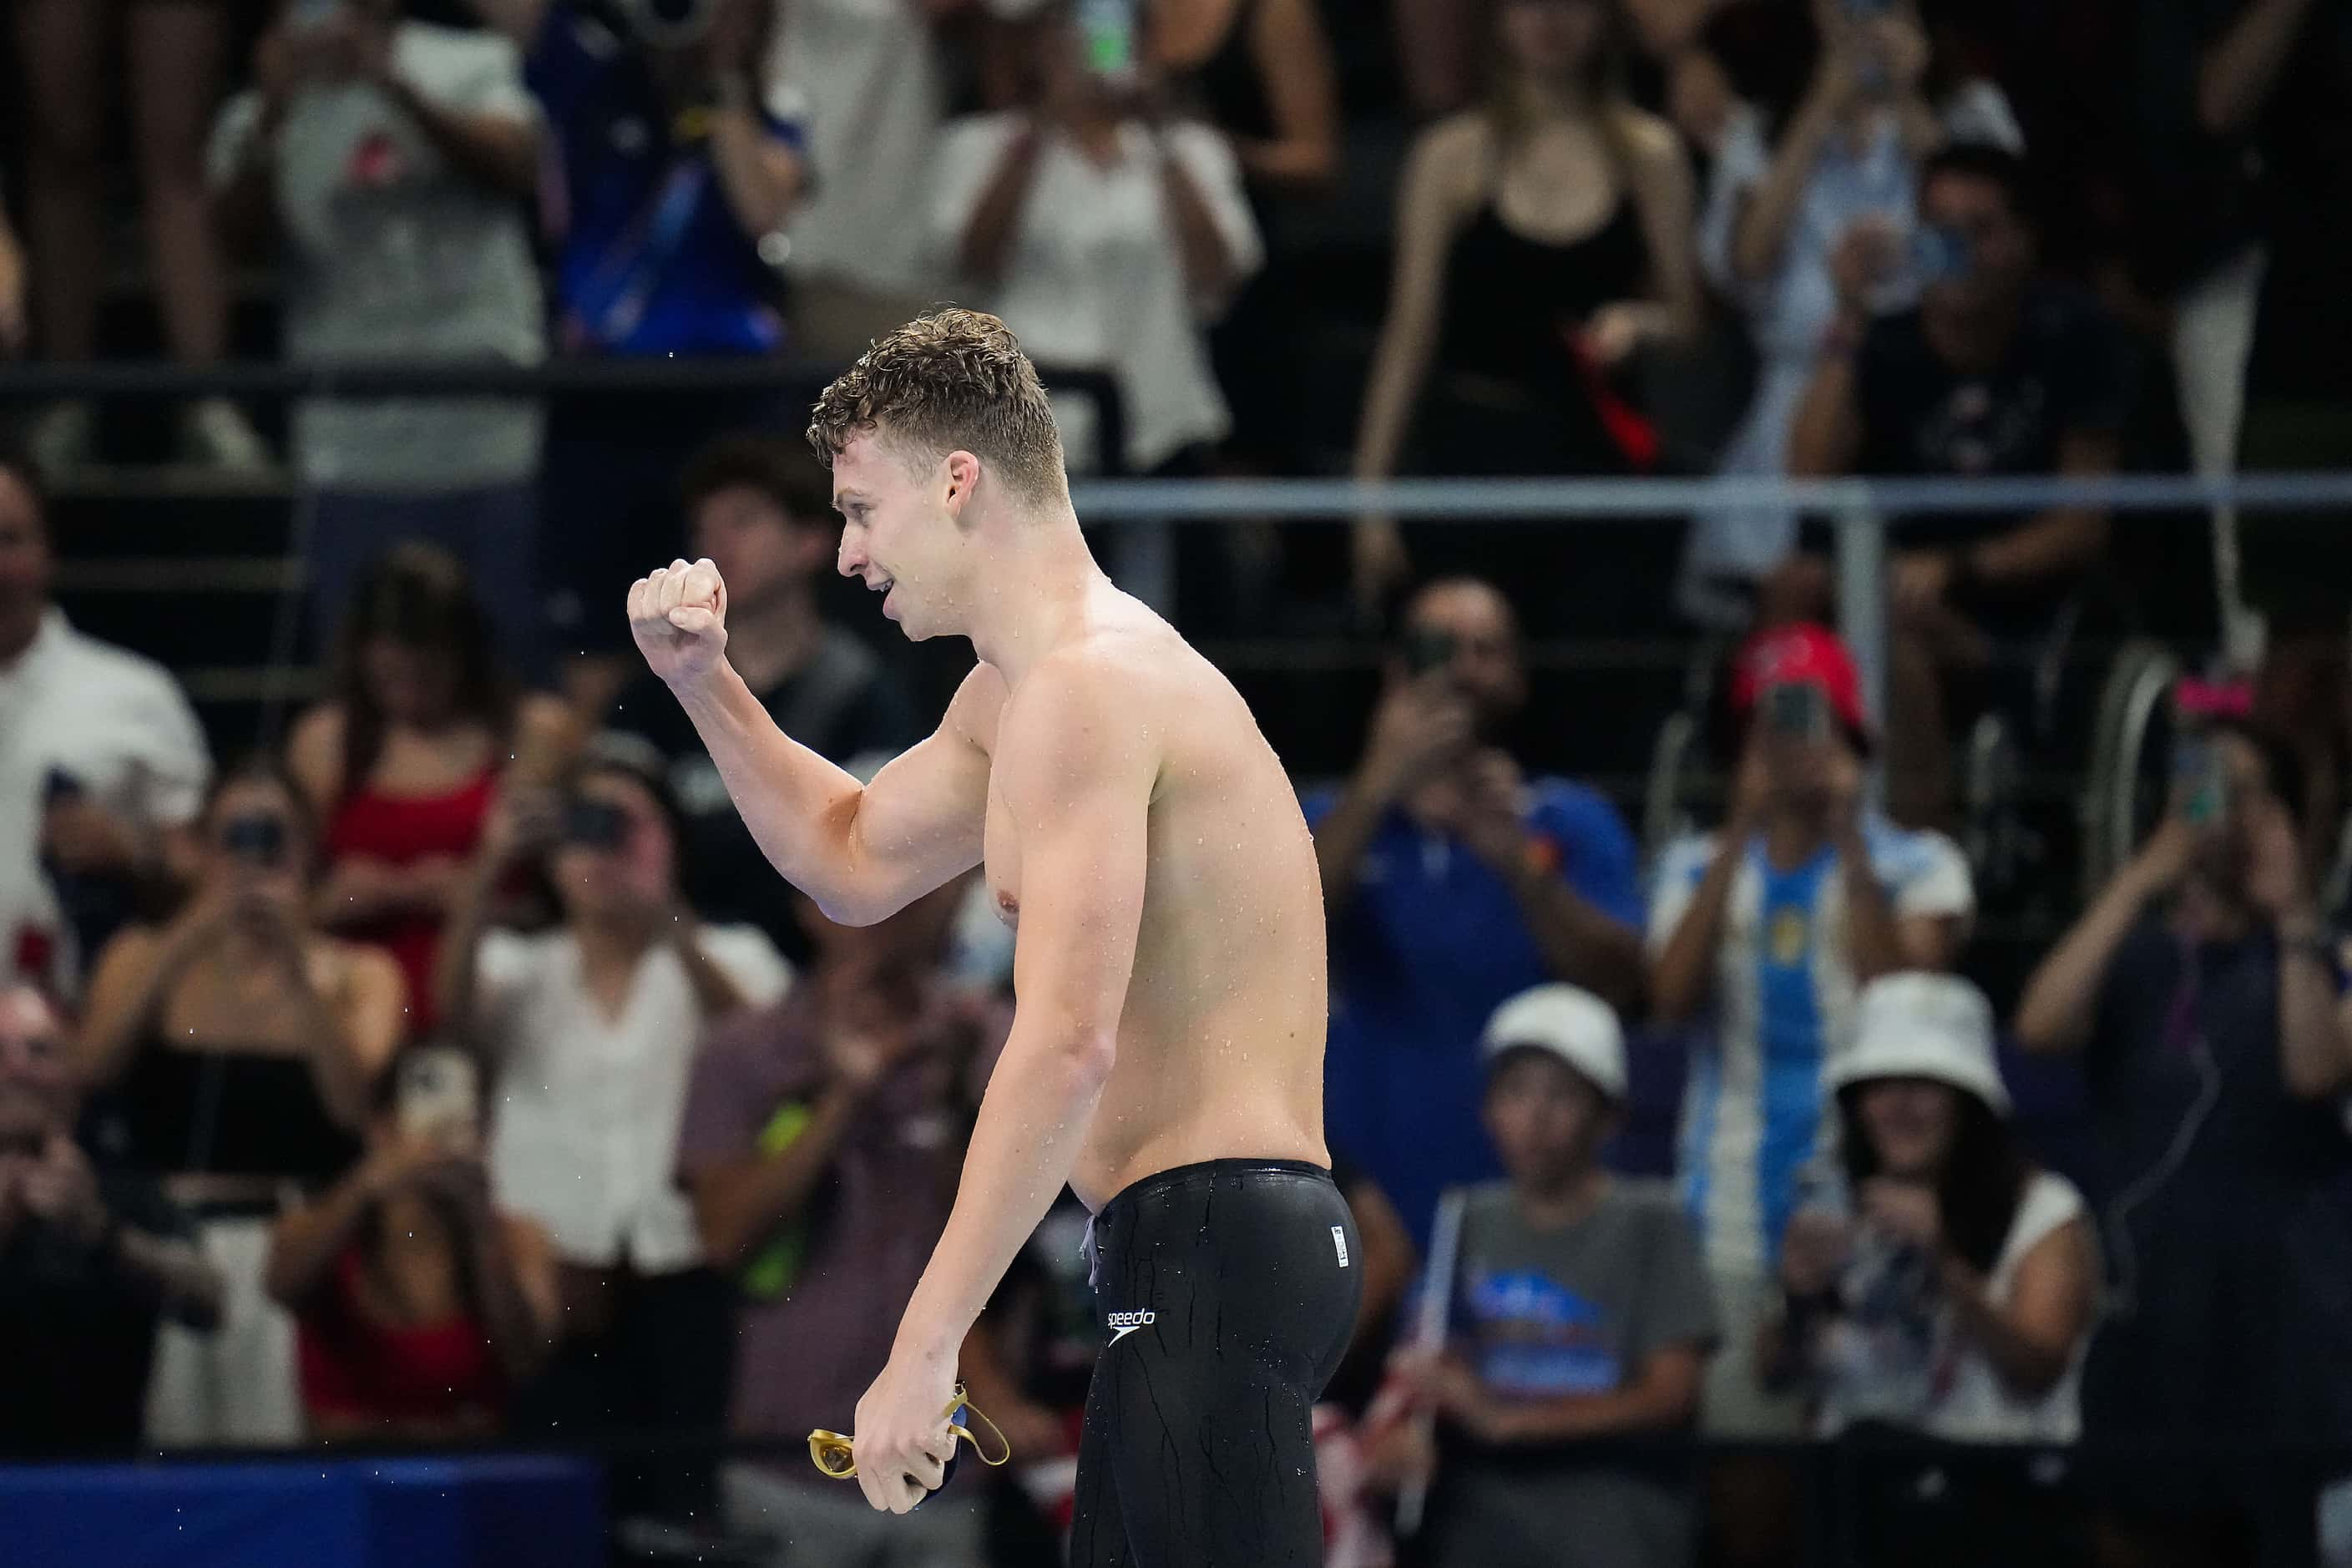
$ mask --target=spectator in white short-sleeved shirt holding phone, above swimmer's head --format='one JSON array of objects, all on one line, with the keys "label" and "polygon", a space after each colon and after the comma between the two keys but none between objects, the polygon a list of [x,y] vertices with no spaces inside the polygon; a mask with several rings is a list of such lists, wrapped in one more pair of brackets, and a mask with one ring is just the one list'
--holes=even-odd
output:
[{"label": "spectator in white short-sleeved shirt holding phone, above swimmer's head", "polygon": [[[1129,468],[1202,473],[1230,428],[1202,322],[1263,261],[1240,165],[1150,75],[1091,63],[1068,0],[1021,28],[1033,108],[948,127],[934,244],[1028,353],[1117,376]],[[1089,400],[1054,416],[1073,456],[1096,451]]]}]

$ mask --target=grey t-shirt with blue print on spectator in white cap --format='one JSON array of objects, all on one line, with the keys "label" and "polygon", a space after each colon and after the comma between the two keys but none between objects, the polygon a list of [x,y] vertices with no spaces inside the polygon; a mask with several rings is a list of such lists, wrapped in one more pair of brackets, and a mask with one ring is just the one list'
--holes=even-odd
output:
[{"label": "grey t-shirt with blue print on spectator in white cap", "polygon": [[[1611,1180],[1599,1206],[1534,1229],[1508,1182],[1463,1211],[1451,1342],[1505,1396],[1609,1394],[1677,1345],[1717,1335],[1698,1237],[1672,1192]],[[1432,1521],[1442,1568],[1682,1568],[1698,1516],[1684,1488],[1573,1455],[1451,1455]]]}]

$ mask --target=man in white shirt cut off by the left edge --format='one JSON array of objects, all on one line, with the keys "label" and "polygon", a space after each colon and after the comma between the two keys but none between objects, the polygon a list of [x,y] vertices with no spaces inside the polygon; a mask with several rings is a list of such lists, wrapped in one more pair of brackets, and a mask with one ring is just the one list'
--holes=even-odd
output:
[{"label": "man in white shirt cut off by the left edge", "polygon": [[54,574],[40,480],[0,451],[0,983],[73,994],[212,759],[172,677],[73,630]]}]

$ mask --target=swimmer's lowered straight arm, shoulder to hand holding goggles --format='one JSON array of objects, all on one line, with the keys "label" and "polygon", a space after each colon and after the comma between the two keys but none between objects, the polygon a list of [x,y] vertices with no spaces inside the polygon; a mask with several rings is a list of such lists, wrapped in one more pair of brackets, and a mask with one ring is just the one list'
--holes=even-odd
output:
[{"label": "swimmer's lowered straight arm, shoulder to hand holding goggles", "polygon": [[[889,1366],[858,1401],[858,1481],[906,1512],[929,1479],[964,1333],[1061,1194],[1117,1053],[1143,926],[1160,745],[1112,672],[1047,661],[1004,712],[1000,790],[1021,875],[1014,1027],[988,1074],[948,1227],[908,1300]],[[866,1453],[877,1455],[870,1469]],[[936,1481],[931,1481],[936,1483]]]}]

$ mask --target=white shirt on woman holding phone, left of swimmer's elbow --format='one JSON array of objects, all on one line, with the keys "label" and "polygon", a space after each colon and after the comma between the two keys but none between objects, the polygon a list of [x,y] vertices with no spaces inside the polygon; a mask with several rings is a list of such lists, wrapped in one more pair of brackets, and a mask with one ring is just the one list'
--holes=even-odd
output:
[{"label": "white shirt on woman holding phone, left of swimmer's elbow", "polygon": [[[750,1006],[793,971],[757,926],[703,926],[703,954]],[[673,1182],[677,1124],[703,1027],[684,959],[652,947],[619,1018],[588,994],[569,931],[492,931],[475,964],[482,1025],[501,1048],[489,1180],[501,1208],[548,1227],[564,1262],[670,1274],[701,1262]]]}]

